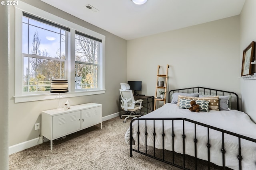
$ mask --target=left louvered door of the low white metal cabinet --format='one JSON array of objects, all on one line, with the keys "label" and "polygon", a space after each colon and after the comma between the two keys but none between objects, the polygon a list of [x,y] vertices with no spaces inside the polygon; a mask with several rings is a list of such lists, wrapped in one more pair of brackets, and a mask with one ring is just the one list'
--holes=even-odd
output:
[{"label": "left louvered door of the low white metal cabinet", "polygon": [[81,129],[81,111],[74,111],[52,117],[52,138],[56,139]]}]

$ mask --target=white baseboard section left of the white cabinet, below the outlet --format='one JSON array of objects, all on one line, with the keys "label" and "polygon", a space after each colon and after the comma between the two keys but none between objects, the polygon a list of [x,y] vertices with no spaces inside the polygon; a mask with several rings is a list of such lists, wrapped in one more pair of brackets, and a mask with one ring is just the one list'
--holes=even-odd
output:
[{"label": "white baseboard section left of the white cabinet, below the outlet", "polygon": [[25,141],[25,142],[22,142],[22,143],[18,143],[16,145],[12,145],[9,147],[9,155],[10,154],[13,154],[13,153],[16,153],[16,152],[19,152],[21,150],[24,150],[24,149],[28,149],[28,148],[31,148],[31,147],[34,147],[36,145],[39,145],[42,142],[42,138],[41,137],[38,137],[38,138],[35,138],[35,139],[31,139],[29,141]]}]

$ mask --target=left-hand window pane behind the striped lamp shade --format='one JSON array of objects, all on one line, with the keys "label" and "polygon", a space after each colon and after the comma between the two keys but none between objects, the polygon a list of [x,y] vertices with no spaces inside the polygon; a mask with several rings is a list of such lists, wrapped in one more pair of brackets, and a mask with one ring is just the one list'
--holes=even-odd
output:
[{"label": "left-hand window pane behind the striped lamp shade", "polygon": [[[23,13],[23,92],[49,91],[52,79],[65,78],[66,31]],[[54,25],[54,26],[52,26]]]}]

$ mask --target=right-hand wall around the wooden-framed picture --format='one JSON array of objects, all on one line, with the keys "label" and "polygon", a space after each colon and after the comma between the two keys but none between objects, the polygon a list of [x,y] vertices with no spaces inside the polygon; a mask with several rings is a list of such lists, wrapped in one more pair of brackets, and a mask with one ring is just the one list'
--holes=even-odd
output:
[{"label": "right-hand wall around the wooden-framed picture", "polygon": [[[244,49],[256,41],[256,0],[246,0],[240,14],[241,45],[240,45],[240,68]],[[247,113],[256,123],[256,80],[241,79],[242,110]]]}]

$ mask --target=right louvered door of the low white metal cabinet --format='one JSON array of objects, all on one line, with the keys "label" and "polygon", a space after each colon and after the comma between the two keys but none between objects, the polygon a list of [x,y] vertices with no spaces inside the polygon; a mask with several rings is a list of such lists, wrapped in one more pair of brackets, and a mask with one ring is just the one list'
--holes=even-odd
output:
[{"label": "right louvered door of the low white metal cabinet", "polygon": [[82,129],[101,123],[101,106],[82,110]]}]

